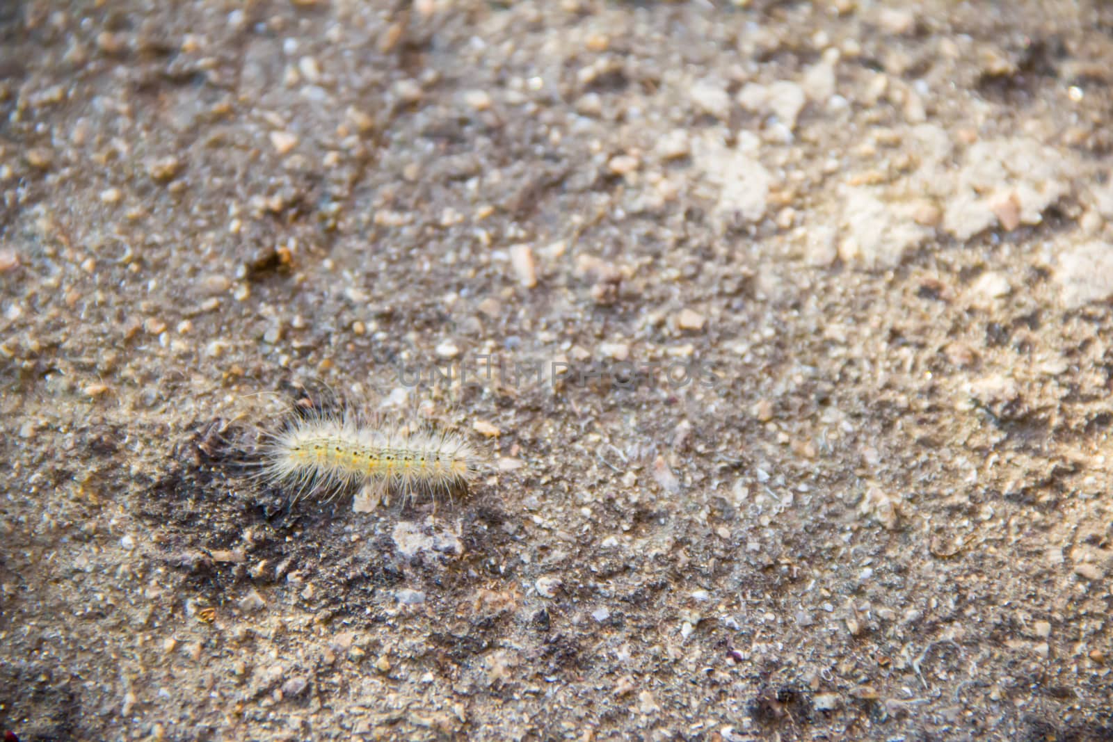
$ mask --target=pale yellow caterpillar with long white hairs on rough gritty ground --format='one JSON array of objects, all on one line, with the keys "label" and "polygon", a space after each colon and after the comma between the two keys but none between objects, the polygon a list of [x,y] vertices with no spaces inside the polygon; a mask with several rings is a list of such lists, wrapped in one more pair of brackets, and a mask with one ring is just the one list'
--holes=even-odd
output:
[{"label": "pale yellow caterpillar with long white hairs on rough gritty ground", "polygon": [[258,476],[268,484],[307,493],[338,493],[361,487],[361,499],[377,502],[387,493],[447,494],[479,476],[483,458],[460,434],[427,425],[365,421],[351,410],[302,410],[279,433],[266,434]]}]

